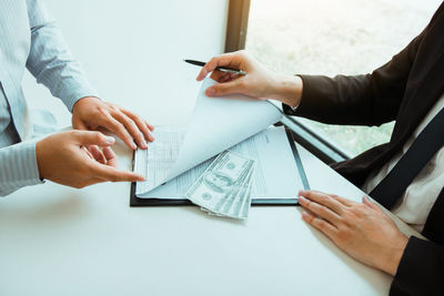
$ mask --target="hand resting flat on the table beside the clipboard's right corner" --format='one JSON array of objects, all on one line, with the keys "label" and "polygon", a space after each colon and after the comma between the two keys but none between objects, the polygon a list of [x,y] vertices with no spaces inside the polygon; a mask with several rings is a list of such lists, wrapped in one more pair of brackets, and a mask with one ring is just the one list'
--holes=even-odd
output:
[{"label": "hand resting flat on the table beside the clipboard's right corner", "polygon": [[395,275],[408,238],[367,197],[356,203],[315,191],[300,192],[299,203],[309,212],[302,218],[325,234],[355,259]]}]

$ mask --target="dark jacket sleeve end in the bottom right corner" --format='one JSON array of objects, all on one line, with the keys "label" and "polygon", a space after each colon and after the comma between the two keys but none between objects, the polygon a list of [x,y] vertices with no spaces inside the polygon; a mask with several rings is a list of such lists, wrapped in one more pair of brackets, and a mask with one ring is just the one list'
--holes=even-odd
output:
[{"label": "dark jacket sleeve end in the bottom right corner", "polygon": [[444,247],[412,236],[390,289],[391,296],[444,295]]}]

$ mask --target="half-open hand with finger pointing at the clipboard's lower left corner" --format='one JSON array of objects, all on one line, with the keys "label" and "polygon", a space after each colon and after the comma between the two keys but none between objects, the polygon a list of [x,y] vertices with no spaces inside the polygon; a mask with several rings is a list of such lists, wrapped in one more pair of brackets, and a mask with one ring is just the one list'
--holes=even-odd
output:
[{"label": "half-open hand with finger pointing at the clipboard's lower left corner", "polygon": [[[100,132],[84,131],[44,137],[36,145],[40,178],[75,188],[107,181],[143,181],[141,175],[117,170],[117,159],[110,147],[114,142],[113,137]],[[87,145],[92,149],[88,151]]]}]

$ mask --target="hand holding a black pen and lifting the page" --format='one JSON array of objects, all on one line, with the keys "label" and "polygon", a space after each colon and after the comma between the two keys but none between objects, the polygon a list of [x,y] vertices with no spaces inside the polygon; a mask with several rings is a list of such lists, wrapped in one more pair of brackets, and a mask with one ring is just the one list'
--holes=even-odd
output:
[{"label": "hand holding a black pen and lifting the page", "polygon": [[[248,74],[238,75],[214,71],[218,67],[243,70]],[[211,59],[202,68],[196,80],[203,80],[210,72],[213,72],[211,78],[220,84],[205,91],[209,96],[242,93],[258,99],[279,100],[291,106],[297,106],[301,101],[303,83],[300,76],[275,74],[263,68],[244,51],[225,53]]]}]

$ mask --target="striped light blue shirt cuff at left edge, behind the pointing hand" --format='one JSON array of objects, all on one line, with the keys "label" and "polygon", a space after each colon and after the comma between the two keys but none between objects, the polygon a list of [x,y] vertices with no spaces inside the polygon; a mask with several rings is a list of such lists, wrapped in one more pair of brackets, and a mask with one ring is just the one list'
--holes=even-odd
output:
[{"label": "striped light blue shirt cuff at left edge, behind the pointing hand", "polygon": [[0,149],[0,196],[43,183],[36,156],[37,140]]}]

